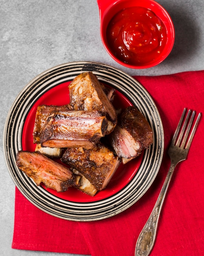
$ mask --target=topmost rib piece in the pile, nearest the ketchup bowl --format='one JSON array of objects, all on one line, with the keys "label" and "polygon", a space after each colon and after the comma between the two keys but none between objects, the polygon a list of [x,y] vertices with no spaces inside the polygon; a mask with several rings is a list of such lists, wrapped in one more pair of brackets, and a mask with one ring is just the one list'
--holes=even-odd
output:
[{"label": "topmost rib piece in the pile, nearest the ketchup bowl", "polygon": [[92,72],[81,73],[69,85],[70,104],[74,110],[98,110],[107,117],[107,134],[110,133],[117,122],[114,106],[109,99],[113,90],[107,90],[107,95],[97,76]]}]

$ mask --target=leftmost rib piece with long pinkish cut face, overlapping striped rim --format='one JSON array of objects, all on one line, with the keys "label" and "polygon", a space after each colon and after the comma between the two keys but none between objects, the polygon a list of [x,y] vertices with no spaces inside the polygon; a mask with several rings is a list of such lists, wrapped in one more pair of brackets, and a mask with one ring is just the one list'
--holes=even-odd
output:
[{"label": "leftmost rib piece with long pinkish cut face, overlapping striped rim", "polygon": [[41,153],[18,151],[16,164],[37,186],[43,182],[47,188],[64,192],[74,183],[72,172],[68,168]]}]

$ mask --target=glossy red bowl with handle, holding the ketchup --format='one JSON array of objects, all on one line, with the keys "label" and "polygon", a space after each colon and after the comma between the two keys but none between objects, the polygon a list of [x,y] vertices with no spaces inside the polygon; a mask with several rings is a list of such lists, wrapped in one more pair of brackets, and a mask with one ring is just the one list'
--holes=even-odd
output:
[{"label": "glossy red bowl with handle, holding the ketchup", "polygon": [[[175,30],[171,17],[160,4],[158,4],[154,0],[97,0],[97,2],[100,14],[101,40],[105,49],[115,61],[125,67],[143,69],[156,66],[161,63],[165,58],[167,58],[167,56],[171,52],[171,49],[173,48]],[[116,15],[116,13],[129,7],[144,7],[151,10],[163,22],[167,32],[166,45],[162,49],[162,52],[158,55],[158,57],[140,65],[128,64],[118,59],[114,55],[112,49],[110,48],[110,45],[107,42],[106,33],[110,20],[114,17],[114,15]]]}]

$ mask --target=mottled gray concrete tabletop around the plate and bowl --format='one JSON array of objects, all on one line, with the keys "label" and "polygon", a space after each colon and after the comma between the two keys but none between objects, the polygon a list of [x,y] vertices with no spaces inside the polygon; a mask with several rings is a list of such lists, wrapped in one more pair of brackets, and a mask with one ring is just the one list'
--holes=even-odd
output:
[{"label": "mottled gray concrete tabletop around the plate and bowl", "polygon": [[4,163],[2,133],[13,100],[31,79],[72,61],[97,61],[147,76],[204,69],[204,1],[158,2],[174,22],[175,45],[160,65],[132,70],[113,61],[103,48],[97,0],[0,0],[0,255],[65,255],[11,249],[15,185]]}]

